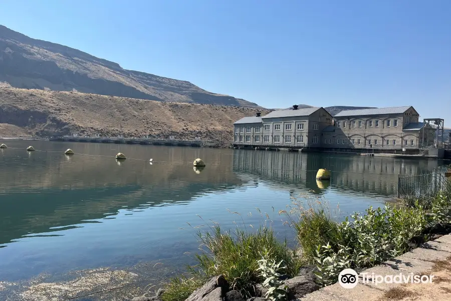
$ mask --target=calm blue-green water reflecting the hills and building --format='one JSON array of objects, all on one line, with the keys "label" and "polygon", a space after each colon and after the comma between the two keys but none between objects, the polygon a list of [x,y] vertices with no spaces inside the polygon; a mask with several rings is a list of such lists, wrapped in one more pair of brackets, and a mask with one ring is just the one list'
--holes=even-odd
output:
[{"label": "calm blue-green water reflecting the hills and building", "polygon": [[[32,144],[49,152],[27,153]],[[265,152],[245,149],[8,141],[0,153],[0,281],[60,275],[101,266],[172,262],[183,268],[210,219],[259,225],[256,207],[293,237],[277,212],[290,197],[323,196],[341,214],[380,205],[396,194],[397,174],[437,161]],[[17,147],[20,149],[13,149]],[[93,156],[63,154],[66,148]],[[111,155],[128,158],[118,164]],[[152,158],[154,163],[149,164]],[[195,173],[192,161],[207,167]],[[332,170],[329,184],[315,180]],[[276,213],[273,212],[273,208]],[[252,215],[251,215],[252,214]],[[202,217],[202,219],[199,218]],[[204,226],[200,226],[204,228]]]}]

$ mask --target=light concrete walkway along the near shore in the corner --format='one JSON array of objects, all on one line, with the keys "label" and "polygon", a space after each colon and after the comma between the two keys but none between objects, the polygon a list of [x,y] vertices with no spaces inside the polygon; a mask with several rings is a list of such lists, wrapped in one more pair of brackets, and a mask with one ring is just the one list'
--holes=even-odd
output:
[{"label": "light concrete walkway along the near shore in the corner", "polygon": [[[395,257],[381,265],[374,266],[364,273],[375,275],[429,275],[428,270],[434,266],[434,261],[446,260],[451,256],[451,234],[441,236],[434,241],[422,244],[401,256]],[[433,273],[432,273],[433,274]],[[433,280],[432,280],[433,281]],[[354,288],[343,288],[339,283],[326,286],[315,292],[307,294],[302,301],[377,301],[383,298],[384,292],[403,284],[373,284],[362,283],[362,274],[359,283]],[[417,284],[422,285],[422,284]]]}]

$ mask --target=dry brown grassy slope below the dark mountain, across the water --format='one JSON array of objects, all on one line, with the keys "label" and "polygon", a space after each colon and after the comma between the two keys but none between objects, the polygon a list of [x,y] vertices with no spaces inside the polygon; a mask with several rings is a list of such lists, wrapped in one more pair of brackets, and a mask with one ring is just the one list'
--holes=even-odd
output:
[{"label": "dry brown grassy slope below the dark mountain, across the water", "polygon": [[[267,110],[0,87],[0,124],[32,135],[80,132],[231,141],[233,122]],[[122,126],[122,127],[121,127]],[[1,127],[0,127],[1,128]],[[0,132],[0,136],[7,133]]]}]

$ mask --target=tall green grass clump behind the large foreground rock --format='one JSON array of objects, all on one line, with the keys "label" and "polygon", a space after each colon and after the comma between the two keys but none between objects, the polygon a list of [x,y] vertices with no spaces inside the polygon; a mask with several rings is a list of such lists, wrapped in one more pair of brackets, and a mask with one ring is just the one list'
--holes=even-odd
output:
[{"label": "tall green grass clump behind the large foreground rock", "polygon": [[271,227],[260,227],[255,233],[237,228],[233,236],[216,225],[212,232],[199,232],[198,237],[207,250],[196,255],[198,265],[190,267],[191,272],[203,277],[223,274],[245,297],[255,295],[255,284],[263,281],[258,270],[262,250],[268,250],[268,260],[283,261],[290,277],[303,265],[302,258],[288,248],[286,241],[280,242]]}]

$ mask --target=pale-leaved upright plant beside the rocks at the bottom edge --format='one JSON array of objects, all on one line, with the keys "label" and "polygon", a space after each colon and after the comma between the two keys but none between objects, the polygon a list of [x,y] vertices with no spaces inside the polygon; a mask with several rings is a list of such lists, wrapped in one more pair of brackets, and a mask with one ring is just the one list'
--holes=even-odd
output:
[{"label": "pale-leaved upright plant beside the rocks at the bottom edge", "polygon": [[276,263],[275,260],[269,259],[269,252],[265,251],[262,259],[258,260],[260,276],[264,279],[262,285],[267,289],[265,298],[272,301],[285,300],[287,298],[287,285],[280,280],[283,270],[286,266],[281,266],[283,260]]}]

